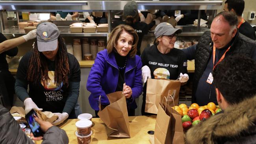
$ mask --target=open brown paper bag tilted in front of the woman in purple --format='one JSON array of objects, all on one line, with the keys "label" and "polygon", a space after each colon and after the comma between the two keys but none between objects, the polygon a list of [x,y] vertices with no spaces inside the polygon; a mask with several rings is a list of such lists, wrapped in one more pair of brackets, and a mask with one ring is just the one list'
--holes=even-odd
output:
[{"label": "open brown paper bag tilted in front of the woman in purple", "polygon": [[130,127],[125,96],[121,91],[107,94],[107,96],[110,104],[104,109],[101,109],[101,105],[99,105],[100,111],[98,112],[98,116],[107,126],[107,135],[109,137],[130,138]]}]

